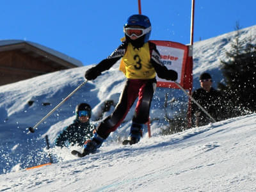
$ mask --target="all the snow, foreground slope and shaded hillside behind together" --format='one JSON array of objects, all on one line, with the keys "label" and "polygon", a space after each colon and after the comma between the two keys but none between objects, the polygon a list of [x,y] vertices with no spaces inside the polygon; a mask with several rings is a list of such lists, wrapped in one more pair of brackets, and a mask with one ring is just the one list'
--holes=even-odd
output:
[{"label": "all the snow, foreground slope and shaded hillside behind together", "polygon": [[[214,86],[221,81],[220,60],[225,60],[225,52],[230,49],[230,41],[235,33],[194,44],[195,88],[199,86],[198,76],[204,71],[212,74]],[[243,29],[241,33],[242,38],[254,37],[252,43],[256,44],[256,26]],[[98,154],[76,159],[70,155],[70,149],[55,148],[54,140],[74,120],[77,104],[88,102],[92,106],[92,121],[97,125],[102,103],[108,99],[118,101],[125,83],[118,63],[95,81],[86,83],[40,124],[35,133],[27,134],[26,128],[39,122],[68,93],[83,83],[84,72],[90,67],[63,70],[0,86],[0,174],[3,174],[0,175],[0,191],[255,189],[255,167],[252,163],[255,153],[251,148],[256,138],[253,132],[255,115],[189,129],[171,136],[159,136],[164,125],[155,121],[151,125],[152,138],[148,139],[145,129],[143,140],[138,145],[123,147],[119,141],[129,132],[134,111],[131,109],[124,124],[109,136]],[[170,115],[180,100],[186,102],[188,99],[177,90],[157,88],[150,118],[159,119],[161,123],[164,122],[163,102],[166,93],[170,100],[172,97],[178,98],[169,105]],[[24,171],[24,168],[49,161],[45,135],[49,136],[51,153],[58,163]]]}]

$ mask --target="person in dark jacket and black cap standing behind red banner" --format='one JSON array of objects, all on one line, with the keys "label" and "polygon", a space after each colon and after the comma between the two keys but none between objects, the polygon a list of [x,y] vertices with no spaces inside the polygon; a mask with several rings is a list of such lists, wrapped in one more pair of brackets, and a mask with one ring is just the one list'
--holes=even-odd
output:
[{"label": "person in dark jacket and black cap standing behind red banner", "polygon": [[[192,97],[216,120],[223,120],[225,107],[223,96],[212,88],[212,77],[209,73],[200,75],[200,86],[192,93]],[[191,104],[192,123],[194,126],[207,125],[212,119],[200,109],[195,102]]]}]

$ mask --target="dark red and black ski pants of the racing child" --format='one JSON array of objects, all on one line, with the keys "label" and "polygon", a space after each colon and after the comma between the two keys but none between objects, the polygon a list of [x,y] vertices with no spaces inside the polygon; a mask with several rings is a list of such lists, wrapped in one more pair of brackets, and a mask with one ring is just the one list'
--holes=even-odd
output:
[{"label": "dark red and black ski pants of the racing child", "polygon": [[148,122],[150,104],[156,88],[156,79],[127,79],[119,102],[111,115],[97,127],[97,134],[106,139],[117,129],[138,98],[132,122],[145,124]]}]

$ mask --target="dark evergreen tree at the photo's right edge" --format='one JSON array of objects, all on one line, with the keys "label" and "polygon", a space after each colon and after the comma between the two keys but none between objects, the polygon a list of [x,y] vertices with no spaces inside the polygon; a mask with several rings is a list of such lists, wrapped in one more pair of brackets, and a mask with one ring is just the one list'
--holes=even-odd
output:
[{"label": "dark evergreen tree at the photo's right edge", "polygon": [[218,84],[226,95],[228,117],[256,111],[256,45],[250,39],[241,41],[239,29],[237,23],[229,60],[221,61],[225,82]]}]

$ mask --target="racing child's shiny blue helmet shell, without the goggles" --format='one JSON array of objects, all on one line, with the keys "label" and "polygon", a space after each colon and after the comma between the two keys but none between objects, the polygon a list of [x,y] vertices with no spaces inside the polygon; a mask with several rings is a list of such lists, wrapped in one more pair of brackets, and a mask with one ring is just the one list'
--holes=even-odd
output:
[{"label": "racing child's shiny blue helmet shell, without the goggles", "polygon": [[150,31],[145,34],[144,43],[148,41],[151,33],[151,23],[147,16],[145,15],[131,15],[124,25],[124,28],[129,26],[141,26],[145,29],[150,28]]}]

